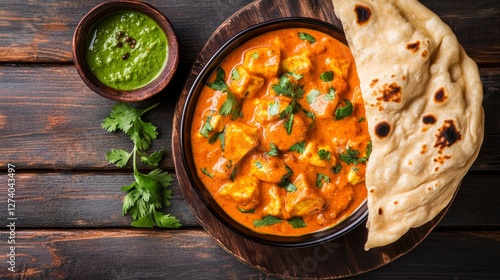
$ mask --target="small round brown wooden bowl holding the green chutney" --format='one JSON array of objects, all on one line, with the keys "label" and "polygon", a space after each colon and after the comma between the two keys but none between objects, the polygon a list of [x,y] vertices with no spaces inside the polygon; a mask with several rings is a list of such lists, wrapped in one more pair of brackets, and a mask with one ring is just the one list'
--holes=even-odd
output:
[{"label": "small round brown wooden bowl holding the green chutney", "polygon": [[[94,24],[119,11],[135,11],[149,16],[162,28],[168,41],[167,61],[161,73],[147,85],[133,90],[119,90],[103,84],[92,73],[86,60],[87,39]],[[146,3],[132,0],[108,1],[90,10],[75,29],[72,51],[76,69],[85,84],[103,97],[123,102],[142,101],[162,91],[174,76],[179,59],[177,37],[165,15]]]}]

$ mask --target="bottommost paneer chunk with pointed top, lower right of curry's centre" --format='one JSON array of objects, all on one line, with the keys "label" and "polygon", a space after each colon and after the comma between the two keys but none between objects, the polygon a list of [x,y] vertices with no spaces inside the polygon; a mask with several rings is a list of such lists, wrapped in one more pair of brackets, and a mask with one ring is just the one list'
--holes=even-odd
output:
[{"label": "bottommost paneer chunk with pointed top, lower right of curry's centre", "polygon": [[297,190],[288,192],[285,197],[285,210],[292,217],[306,217],[325,207],[325,199],[306,181],[304,174],[300,174],[293,184]]}]

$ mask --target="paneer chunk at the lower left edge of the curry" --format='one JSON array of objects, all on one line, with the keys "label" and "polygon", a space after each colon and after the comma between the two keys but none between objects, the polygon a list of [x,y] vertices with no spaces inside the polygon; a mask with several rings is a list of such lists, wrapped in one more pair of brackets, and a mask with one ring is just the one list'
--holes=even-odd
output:
[{"label": "paneer chunk at the lower left edge of the curry", "polygon": [[251,175],[238,177],[219,189],[219,194],[230,197],[242,210],[254,209],[259,204],[259,185],[257,178]]}]

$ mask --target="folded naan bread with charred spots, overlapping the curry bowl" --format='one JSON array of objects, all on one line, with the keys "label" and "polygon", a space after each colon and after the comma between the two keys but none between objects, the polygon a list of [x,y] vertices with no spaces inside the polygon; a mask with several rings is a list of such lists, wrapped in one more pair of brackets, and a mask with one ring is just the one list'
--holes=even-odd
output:
[{"label": "folded naan bread with charred spots, overlapping the curry bowl", "polygon": [[453,198],[483,140],[482,83],[452,30],[416,0],[333,0],[373,142],[365,249],[398,240]]}]

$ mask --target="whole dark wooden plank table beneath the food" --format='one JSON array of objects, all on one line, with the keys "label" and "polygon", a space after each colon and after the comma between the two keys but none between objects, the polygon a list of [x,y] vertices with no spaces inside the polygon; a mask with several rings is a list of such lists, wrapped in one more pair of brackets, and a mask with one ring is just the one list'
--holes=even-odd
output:
[{"label": "whole dark wooden plank table beneath the food", "polygon": [[[131,168],[108,164],[105,154],[111,148],[132,146],[122,134],[101,128],[115,102],[85,86],[71,57],[78,21],[100,2],[2,0],[0,4],[0,220],[7,225],[0,228],[0,278],[274,278],[219,247],[191,214],[176,182],[171,187],[173,205],[166,212],[181,220],[181,229],[136,229],[130,227],[129,216],[121,215],[120,188],[133,180]],[[168,151],[161,167],[175,174],[171,130],[176,99],[212,32],[251,1],[146,2],[171,20],[181,57],[166,90],[134,105],[161,103],[145,119],[159,127],[153,149]],[[498,279],[500,5],[497,0],[422,3],[451,26],[479,65],[485,140],[450,210],[433,232],[404,256],[354,278]],[[9,164],[16,174],[14,216],[8,215]],[[15,229],[9,228],[11,222]],[[15,272],[8,270],[12,252]]]}]

